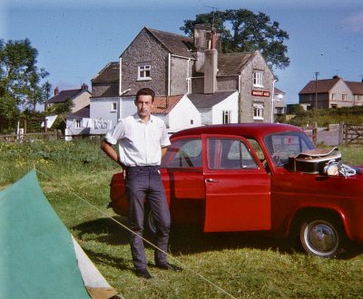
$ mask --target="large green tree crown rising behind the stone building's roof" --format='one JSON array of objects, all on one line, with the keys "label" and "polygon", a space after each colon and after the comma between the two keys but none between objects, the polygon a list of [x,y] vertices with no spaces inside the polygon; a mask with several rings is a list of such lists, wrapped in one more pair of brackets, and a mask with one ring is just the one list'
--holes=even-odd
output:
[{"label": "large green tree crown rising behind the stone building's roof", "polygon": [[180,29],[191,36],[197,24],[213,24],[221,32],[222,53],[258,50],[271,69],[289,66],[288,47],[284,44],[289,34],[280,29],[279,22],[271,22],[267,14],[254,14],[248,9],[197,14],[195,20],[185,20]]}]

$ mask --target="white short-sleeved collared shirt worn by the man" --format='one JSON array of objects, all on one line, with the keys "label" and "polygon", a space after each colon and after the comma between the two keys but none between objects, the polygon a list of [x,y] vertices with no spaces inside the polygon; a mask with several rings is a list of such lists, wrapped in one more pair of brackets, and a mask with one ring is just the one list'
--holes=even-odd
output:
[{"label": "white short-sleeved collared shirt worn by the man", "polygon": [[145,123],[137,113],[119,121],[104,140],[119,143],[119,159],[128,167],[160,165],[162,148],[171,144],[162,119],[151,115]]}]

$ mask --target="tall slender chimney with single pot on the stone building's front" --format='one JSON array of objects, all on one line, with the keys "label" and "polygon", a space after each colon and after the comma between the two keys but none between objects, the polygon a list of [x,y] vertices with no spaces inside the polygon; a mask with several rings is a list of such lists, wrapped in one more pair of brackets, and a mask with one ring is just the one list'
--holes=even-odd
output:
[{"label": "tall slender chimney with single pot on the stone building's front", "polygon": [[216,36],[211,31],[211,49],[205,51],[204,93],[217,92],[218,51],[215,49]]}]

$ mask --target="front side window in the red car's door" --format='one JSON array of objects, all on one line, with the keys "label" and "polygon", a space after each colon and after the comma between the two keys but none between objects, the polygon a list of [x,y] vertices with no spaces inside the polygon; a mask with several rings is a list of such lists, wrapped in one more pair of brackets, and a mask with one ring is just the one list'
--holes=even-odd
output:
[{"label": "front side window in the red car's door", "polygon": [[208,140],[208,167],[210,169],[257,169],[258,164],[250,149],[241,141],[233,139]]}]

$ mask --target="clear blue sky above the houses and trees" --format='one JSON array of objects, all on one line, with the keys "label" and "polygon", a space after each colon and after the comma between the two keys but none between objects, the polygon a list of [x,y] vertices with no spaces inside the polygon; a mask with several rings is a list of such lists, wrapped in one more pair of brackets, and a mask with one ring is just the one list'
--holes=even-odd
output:
[{"label": "clear blue sky above the houses and trees", "polygon": [[311,80],[363,80],[363,0],[1,0],[0,39],[28,38],[52,89],[80,88],[119,56],[144,26],[183,34],[184,20],[249,9],[289,34],[289,67],[274,70],[286,103]]}]

